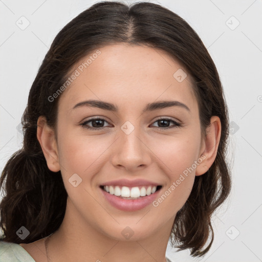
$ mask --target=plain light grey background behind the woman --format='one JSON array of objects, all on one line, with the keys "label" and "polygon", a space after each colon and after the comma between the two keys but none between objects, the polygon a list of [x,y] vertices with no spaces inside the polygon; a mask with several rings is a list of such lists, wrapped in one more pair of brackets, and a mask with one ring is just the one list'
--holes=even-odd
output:
[{"label": "plain light grey background behind the woman", "polygon": [[[21,116],[54,37],[95,2],[0,0],[1,170],[21,147]],[[211,250],[204,258],[193,259],[189,251],[176,253],[168,246],[167,256],[173,261],[262,261],[262,2],[150,2],[179,14],[199,34],[219,71],[231,122],[228,161],[233,188],[213,215]]]}]

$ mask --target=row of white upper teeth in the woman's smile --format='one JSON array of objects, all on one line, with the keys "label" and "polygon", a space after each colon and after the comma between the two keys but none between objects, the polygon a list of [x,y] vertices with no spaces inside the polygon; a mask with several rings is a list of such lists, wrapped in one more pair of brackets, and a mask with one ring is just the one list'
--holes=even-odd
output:
[{"label": "row of white upper teeth in the woman's smile", "polygon": [[154,194],[157,190],[156,186],[143,186],[139,189],[139,187],[126,187],[123,186],[120,188],[119,186],[104,186],[104,190],[107,193],[114,194],[117,197],[122,197],[122,198],[140,198],[140,197],[145,197],[145,195],[150,195]]}]

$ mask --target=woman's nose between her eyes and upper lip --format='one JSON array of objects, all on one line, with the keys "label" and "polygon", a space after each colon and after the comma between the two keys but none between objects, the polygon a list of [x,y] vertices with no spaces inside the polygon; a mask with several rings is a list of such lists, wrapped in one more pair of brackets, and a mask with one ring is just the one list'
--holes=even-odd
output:
[{"label": "woman's nose between her eyes and upper lip", "polygon": [[112,164],[129,172],[149,166],[152,160],[147,144],[148,141],[141,135],[139,128],[135,128],[128,135],[120,129],[119,137],[112,148]]}]

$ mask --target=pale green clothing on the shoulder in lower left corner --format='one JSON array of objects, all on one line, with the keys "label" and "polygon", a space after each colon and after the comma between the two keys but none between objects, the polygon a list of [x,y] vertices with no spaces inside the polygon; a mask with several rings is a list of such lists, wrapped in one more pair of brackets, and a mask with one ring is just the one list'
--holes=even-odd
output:
[{"label": "pale green clothing on the shoulder in lower left corner", "polygon": [[0,262],[35,262],[20,245],[0,241]]}]

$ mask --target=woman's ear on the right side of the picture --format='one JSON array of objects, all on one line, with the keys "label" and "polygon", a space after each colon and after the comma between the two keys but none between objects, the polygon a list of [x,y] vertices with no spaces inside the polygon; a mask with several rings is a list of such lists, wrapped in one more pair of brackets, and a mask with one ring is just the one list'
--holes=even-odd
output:
[{"label": "woman's ear on the right side of the picture", "polygon": [[204,138],[201,148],[202,162],[195,169],[195,176],[201,176],[204,174],[213,164],[217,148],[219,147],[221,137],[221,122],[217,116],[210,118],[210,125],[206,129],[206,137]]}]

